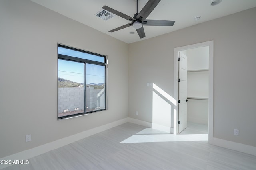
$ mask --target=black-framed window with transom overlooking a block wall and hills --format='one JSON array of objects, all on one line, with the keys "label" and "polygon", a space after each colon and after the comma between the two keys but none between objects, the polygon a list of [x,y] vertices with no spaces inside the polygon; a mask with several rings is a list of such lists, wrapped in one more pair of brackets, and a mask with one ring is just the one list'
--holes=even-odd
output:
[{"label": "black-framed window with transom overlooking a block wall and hills", "polygon": [[106,56],[58,45],[58,119],[106,110]]}]

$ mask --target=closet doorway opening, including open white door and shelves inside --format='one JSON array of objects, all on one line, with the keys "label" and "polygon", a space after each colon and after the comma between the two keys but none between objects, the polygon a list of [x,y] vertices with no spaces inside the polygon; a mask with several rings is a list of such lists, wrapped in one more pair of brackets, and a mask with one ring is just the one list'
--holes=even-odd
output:
[{"label": "closet doorway opening, including open white door and shelves inside", "polygon": [[[180,51],[179,61],[179,115],[178,133],[181,134],[208,134],[208,96],[209,96],[209,46],[197,47]],[[186,60],[184,60],[186,58]],[[186,64],[184,63],[186,61]],[[182,78],[181,68],[186,65],[186,76]],[[184,67],[183,66],[183,67]],[[182,69],[182,70],[181,70]],[[186,83],[184,89],[182,85]],[[186,92],[184,100],[180,91]],[[187,105],[187,109],[182,109],[182,101]],[[183,111],[181,111],[183,110]],[[186,111],[187,120],[185,123],[182,117]],[[186,126],[184,127],[184,124]]]}]

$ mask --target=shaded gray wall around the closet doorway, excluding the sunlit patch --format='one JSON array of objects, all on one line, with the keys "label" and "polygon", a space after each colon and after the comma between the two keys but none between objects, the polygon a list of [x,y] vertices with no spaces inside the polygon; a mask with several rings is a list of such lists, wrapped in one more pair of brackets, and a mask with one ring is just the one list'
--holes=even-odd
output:
[{"label": "shaded gray wall around the closet doorway, excluding the sunlit patch", "polygon": [[252,8],[129,44],[129,117],[153,121],[147,82],[174,95],[174,48],[213,40],[213,137],[256,147],[255,16]]}]

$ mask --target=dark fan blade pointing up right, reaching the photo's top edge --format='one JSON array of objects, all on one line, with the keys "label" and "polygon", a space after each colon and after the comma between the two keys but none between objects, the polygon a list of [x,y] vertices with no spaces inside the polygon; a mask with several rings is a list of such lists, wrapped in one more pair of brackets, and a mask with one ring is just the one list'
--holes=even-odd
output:
[{"label": "dark fan blade pointing up right, reaching the photo's top edge", "polygon": [[136,19],[144,21],[148,17],[148,15],[156,8],[157,4],[161,0],[149,0],[146,5],[142,8],[140,13],[136,16]]}]

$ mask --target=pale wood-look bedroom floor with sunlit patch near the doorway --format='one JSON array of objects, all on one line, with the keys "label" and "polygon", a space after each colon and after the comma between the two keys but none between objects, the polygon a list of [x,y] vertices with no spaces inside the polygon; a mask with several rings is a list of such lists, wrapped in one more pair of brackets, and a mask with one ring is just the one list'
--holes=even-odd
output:
[{"label": "pale wood-look bedroom floor with sunlit patch near the doorway", "polygon": [[[216,147],[199,139],[173,140],[182,136],[186,134],[166,134],[124,123],[33,157],[27,165],[12,165],[4,170],[256,169],[256,156]],[[165,137],[168,139],[164,141]],[[157,140],[159,141],[156,142]]]}]

